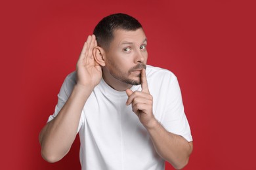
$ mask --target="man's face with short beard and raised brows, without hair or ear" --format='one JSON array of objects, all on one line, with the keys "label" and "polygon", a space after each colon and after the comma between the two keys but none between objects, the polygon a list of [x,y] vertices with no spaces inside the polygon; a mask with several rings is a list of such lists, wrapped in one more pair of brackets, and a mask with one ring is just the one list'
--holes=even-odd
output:
[{"label": "man's face with short beard and raised brows, without hair or ear", "polygon": [[136,31],[117,29],[106,52],[106,71],[126,84],[140,84],[140,72],[146,69],[148,52],[142,28]]}]

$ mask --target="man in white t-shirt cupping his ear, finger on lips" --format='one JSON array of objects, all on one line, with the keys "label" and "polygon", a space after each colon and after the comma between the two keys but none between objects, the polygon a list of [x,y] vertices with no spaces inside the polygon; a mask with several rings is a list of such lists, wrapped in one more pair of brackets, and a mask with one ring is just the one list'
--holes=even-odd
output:
[{"label": "man in white t-shirt cupping his ear, finger on lips", "polygon": [[[95,38],[96,36],[96,38]],[[79,132],[82,169],[175,169],[192,152],[190,127],[173,73],[146,66],[147,39],[127,14],[103,18],[67,76],[39,135],[41,155],[62,159]]]}]

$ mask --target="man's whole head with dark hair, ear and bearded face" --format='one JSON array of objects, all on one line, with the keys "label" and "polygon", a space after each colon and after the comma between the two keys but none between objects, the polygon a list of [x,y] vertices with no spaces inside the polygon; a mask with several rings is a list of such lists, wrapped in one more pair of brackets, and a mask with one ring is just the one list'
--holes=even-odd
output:
[{"label": "man's whole head with dark hair, ear and bearded face", "polygon": [[98,46],[93,55],[102,66],[105,82],[120,91],[140,84],[140,72],[148,59],[141,24],[127,14],[112,14],[96,25],[94,34]]}]

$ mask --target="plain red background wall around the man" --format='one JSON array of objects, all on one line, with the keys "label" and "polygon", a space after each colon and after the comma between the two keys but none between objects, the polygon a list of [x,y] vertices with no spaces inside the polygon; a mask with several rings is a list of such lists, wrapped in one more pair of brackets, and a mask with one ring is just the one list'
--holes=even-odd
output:
[{"label": "plain red background wall around the man", "polygon": [[148,63],[178,76],[194,138],[184,169],[256,169],[253,3],[25,0],[0,6],[0,169],[81,169],[78,137],[51,164],[40,156],[38,135],[87,35],[116,12],[144,26]]}]

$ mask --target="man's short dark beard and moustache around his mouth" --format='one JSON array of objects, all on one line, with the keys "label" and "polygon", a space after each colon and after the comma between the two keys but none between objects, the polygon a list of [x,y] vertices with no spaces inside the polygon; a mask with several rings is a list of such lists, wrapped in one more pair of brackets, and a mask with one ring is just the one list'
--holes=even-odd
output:
[{"label": "man's short dark beard and moustache around his mouth", "polygon": [[133,71],[137,71],[139,69],[146,69],[146,65],[144,63],[139,63],[135,67],[132,67],[131,69],[129,69],[127,72],[122,71],[122,69],[118,67],[115,63],[113,62],[109,62],[109,63],[110,63],[110,67],[108,67],[108,69],[110,71],[110,75],[112,75],[117,80],[124,82],[126,84],[131,84],[131,85],[141,84],[141,80],[140,80],[141,73],[137,75],[136,78],[129,78],[129,76]]}]

